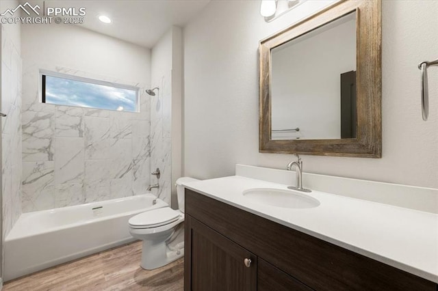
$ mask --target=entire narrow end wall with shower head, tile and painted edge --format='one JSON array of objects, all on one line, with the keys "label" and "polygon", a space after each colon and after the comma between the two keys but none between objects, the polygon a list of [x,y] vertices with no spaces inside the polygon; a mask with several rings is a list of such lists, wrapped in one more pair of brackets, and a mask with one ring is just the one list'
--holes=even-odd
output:
[{"label": "entire narrow end wall with shower head, tile and painted edge", "polygon": [[[152,49],[151,168],[159,167],[159,195],[172,193],[177,208],[175,181],[181,177],[182,31],[172,27]],[[152,181],[156,181],[155,178]]]}]

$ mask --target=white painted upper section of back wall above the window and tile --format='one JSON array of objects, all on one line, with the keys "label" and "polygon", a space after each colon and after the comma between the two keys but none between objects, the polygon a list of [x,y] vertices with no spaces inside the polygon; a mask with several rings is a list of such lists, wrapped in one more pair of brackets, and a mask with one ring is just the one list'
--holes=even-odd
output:
[{"label": "white painted upper section of back wall above the window and tile", "polygon": [[76,25],[23,25],[22,40],[35,44],[23,50],[23,57],[42,64],[142,83],[151,80],[149,49]]}]

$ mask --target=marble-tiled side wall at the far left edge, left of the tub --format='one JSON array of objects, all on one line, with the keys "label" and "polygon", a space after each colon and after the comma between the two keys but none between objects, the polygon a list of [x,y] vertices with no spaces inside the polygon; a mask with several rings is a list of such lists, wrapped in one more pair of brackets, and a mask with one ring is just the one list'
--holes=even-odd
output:
[{"label": "marble-tiled side wall at the far left edge, left of the tub", "polygon": [[21,56],[1,26],[1,176],[3,239],[21,214]]}]

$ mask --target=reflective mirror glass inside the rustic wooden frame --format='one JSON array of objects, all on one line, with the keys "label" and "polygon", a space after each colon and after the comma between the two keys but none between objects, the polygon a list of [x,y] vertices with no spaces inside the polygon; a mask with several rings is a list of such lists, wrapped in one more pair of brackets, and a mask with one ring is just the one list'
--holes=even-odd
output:
[{"label": "reflective mirror glass inside the rustic wooden frame", "polygon": [[272,48],[271,61],[271,139],[356,137],[355,12]]}]

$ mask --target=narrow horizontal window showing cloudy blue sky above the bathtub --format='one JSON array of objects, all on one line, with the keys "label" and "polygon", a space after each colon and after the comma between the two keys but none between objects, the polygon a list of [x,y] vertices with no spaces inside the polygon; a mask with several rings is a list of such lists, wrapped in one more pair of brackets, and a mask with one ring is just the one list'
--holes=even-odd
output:
[{"label": "narrow horizontal window showing cloudy blue sky above the bathtub", "polygon": [[55,72],[41,79],[43,103],[138,112],[138,87]]}]

